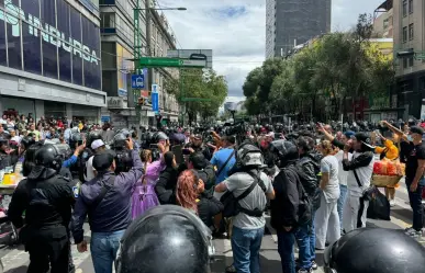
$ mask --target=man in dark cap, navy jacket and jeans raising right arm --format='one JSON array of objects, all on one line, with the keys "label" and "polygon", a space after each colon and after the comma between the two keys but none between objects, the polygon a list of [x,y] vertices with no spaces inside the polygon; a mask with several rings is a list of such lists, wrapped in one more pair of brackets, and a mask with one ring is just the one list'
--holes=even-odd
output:
[{"label": "man in dark cap, navy jacket and jeans raising right arm", "polygon": [[131,196],[143,175],[143,163],[133,140],[125,140],[133,167],[116,172],[119,160],[113,150],[104,150],[93,158],[97,177],[83,183],[72,215],[72,235],[79,252],[88,250],[82,225],[89,215],[91,228],[91,257],[96,273],[112,272],[121,237],[132,221]]}]

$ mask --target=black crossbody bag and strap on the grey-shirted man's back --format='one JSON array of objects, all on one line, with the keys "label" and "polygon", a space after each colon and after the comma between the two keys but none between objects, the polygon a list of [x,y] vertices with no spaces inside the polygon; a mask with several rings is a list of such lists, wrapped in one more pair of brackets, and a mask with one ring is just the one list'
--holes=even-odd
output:
[{"label": "black crossbody bag and strap on the grey-shirted man's back", "polygon": [[224,209],[222,212],[223,217],[233,217],[233,216],[238,215],[239,213],[244,213],[244,214],[253,216],[253,217],[261,217],[262,216],[265,207],[262,209],[255,208],[254,211],[250,211],[250,209],[246,209],[246,208],[242,207],[241,204],[239,204],[239,201],[245,198],[246,196],[248,196],[248,194],[250,192],[253,192],[253,190],[257,185],[259,185],[265,193],[267,191],[266,185],[258,178],[259,173],[255,174],[255,173],[251,173],[251,172],[247,172],[247,174],[251,175],[251,178],[254,179],[254,182],[249,185],[249,187],[247,190],[245,190],[245,192],[243,192],[239,196],[235,197],[233,192],[227,191],[220,198],[220,202],[223,203],[223,205],[224,205]]}]

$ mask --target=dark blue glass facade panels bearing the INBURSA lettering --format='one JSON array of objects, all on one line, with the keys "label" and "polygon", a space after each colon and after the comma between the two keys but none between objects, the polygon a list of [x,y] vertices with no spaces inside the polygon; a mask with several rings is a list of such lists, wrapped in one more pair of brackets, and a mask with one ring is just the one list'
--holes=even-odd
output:
[{"label": "dark blue glass facade panels bearing the INBURSA lettering", "polygon": [[0,66],[101,90],[100,30],[65,0],[0,0]]}]

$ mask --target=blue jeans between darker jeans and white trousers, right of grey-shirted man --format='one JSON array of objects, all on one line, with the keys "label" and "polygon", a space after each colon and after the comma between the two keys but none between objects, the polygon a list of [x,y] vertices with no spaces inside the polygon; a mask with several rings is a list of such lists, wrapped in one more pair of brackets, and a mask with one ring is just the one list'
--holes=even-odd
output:
[{"label": "blue jeans between darker jeans and white trousers, right of grey-shirted man", "polygon": [[314,236],[314,230],[312,232],[312,228],[314,229],[313,223],[299,227],[294,232],[294,236],[298,242],[298,248],[299,248],[299,266],[300,269],[304,269],[304,270],[310,270],[312,266],[312,261],[314,260],[313,254],[315,253],[315,250],[313,246],[313,252],[312,252],[311,238],[312,237],[314,238],[313,241],[315,243],[315,236]]}]

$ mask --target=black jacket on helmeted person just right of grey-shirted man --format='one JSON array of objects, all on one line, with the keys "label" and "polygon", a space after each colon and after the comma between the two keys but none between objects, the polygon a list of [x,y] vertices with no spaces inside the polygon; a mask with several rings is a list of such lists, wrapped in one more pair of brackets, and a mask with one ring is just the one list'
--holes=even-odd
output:
[{"label": "black jacket on helmeted person just right of grey-shirted man", "polygon": [[[295,166],[292,163],[286,168],[295,169]],[[270,224],[278,231],[282,231],[283,227],[297,226],[300,204],[298,181],[297,172],[286,171],[284,169],[281,169],[275,178],[276,198],[270,201]]]}]

